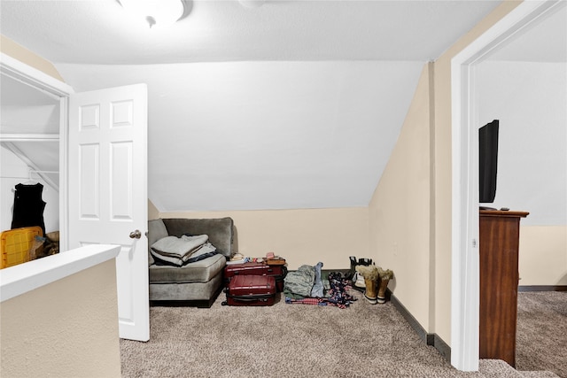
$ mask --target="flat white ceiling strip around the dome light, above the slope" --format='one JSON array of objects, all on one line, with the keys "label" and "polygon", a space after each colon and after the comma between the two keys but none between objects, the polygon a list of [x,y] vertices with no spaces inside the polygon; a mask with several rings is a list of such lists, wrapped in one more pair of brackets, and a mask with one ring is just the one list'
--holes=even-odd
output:
[{"label": "flat white ceiling strip around the dome light, above the slope", "polygon": [[2,34],[53,63],[438,58],[500,1],[190,2],[172,27],[148,28],[114,0],[2,1]]}]

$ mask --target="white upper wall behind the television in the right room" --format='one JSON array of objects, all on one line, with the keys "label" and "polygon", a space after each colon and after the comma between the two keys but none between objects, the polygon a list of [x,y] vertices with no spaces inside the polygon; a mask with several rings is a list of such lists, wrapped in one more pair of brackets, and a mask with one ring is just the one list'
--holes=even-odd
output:
[{"label": "white upper wall behind the television in the right room", "polygon": [[524,226],[567,225],[567,65],[478,66],[479,125],[500,120],[493,207],[530,212]]}]

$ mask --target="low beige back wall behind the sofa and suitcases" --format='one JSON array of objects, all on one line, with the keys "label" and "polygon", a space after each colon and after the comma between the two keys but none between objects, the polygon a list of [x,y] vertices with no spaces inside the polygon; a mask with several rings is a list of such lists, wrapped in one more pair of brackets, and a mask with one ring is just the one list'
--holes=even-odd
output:
[{"label": "low beige back wall behind the sofa and suitcases", "polygon": [[368,256],[368,209],[302,209],[238,212],[162,212],[161,218],[231,217],[238,251],[262,257],[274,252],[289,269],[319,261],[323,269],[347,269],[349,256]]}]

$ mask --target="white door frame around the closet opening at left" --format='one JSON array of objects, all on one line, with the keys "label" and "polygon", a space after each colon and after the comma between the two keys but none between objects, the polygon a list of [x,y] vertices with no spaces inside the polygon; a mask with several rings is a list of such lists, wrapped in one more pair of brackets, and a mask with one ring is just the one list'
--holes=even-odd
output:
[{"label": "white door frame around the closet opening at left", "polygon": [[16,81],[20,81],[32,88],[47,93],[59,100],[59,230],[61,239],[59,240],[60,251],[68,250],[67,239],[67,99],[74,93],[74,89],[63,81],[50,76],[47,73],[28,66],[26,63],[16,58],[0,53],[0,74],[8,76]]}]

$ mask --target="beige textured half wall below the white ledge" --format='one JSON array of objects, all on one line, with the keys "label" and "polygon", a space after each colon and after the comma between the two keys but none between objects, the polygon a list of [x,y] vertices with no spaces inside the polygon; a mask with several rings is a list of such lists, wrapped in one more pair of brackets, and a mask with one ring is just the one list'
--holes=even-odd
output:
[{"label": "beige textured half wall below the white ledge", "polygon": [[120,377],[116,264],[110,259],[4,301],[3,377]]}]

